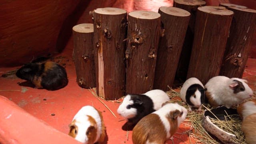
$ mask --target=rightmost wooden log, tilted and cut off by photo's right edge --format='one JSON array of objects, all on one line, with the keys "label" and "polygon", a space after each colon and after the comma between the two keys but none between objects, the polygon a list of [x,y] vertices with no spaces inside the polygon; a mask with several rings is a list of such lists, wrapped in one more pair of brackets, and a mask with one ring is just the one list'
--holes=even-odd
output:
[{"label": "rightmost wooden log, tilted and cut off by photo's right edge", "polygon": [[229,6],[234,12],[220,75],[242,78],[256,28],[256,10]]}]

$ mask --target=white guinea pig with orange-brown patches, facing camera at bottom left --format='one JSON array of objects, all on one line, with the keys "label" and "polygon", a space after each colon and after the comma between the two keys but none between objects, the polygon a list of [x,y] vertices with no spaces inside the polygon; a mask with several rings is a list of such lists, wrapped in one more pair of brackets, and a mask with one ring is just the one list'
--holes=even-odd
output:
[{"label": "white guinea pig with orange-brown patches, facing camera at bottom left", "polygon": [[93,106],[82,107],[74,116],[69,128],[68,135],[84,144],[102,143],[106,136],[102,114]]}]

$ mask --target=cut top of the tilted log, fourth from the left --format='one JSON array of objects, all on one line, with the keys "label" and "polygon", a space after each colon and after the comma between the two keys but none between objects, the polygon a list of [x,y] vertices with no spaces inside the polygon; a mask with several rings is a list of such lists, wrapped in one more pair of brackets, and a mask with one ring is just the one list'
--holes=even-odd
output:
[{"label": "cut top of the tilted log, fourth from the left", "polygon": [[190,12],[181,8],[161,6],[159,10],[172,16],[190,16]]}]

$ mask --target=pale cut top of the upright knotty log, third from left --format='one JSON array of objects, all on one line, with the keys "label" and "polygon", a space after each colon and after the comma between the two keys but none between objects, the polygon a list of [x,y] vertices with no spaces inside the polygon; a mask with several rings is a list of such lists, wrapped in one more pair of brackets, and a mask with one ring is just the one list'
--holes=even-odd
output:
[{"label": "pale cut top of the upright knotty log, third from left", "polygon": [[158,14],[157,12],[151,12],[151,11],[134,11],[134,12],[130,12],[128,15],[134,18],[140,18],[140,19],[160,18],[160,14]]}]

